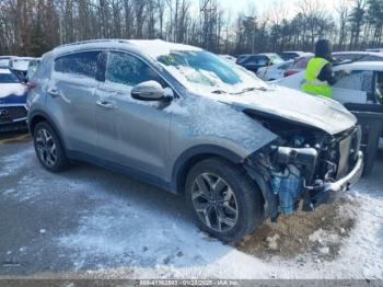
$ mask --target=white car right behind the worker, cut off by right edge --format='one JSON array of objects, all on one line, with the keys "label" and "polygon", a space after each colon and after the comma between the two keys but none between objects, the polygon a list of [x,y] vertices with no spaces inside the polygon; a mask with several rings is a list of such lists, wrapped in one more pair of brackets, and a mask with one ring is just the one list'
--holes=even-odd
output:
[{"label": "white car right behind the worker, cut off by right edge", "polygon": [[[341,78],[333,87],[334,100],[345,103],[383,104],[383,62],[357,61],[334,67],[334,72],[348,70],[350,76]],[[275,81],[276,84],[301,90],[304,71]]]}]

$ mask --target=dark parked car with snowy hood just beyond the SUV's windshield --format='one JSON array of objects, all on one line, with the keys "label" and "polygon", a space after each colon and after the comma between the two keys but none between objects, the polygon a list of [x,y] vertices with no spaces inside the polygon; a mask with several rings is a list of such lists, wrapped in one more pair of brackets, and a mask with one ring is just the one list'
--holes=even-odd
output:
[{"label": "dark parked car with snowy hood just beyond the SUV's windshield", "polygon": [[257,72],[262,67],[272,66],[281,62],[283,62],[283,59],[275,53],[241,55],[236,60],[237,65],[246,68],[252,72]]}]

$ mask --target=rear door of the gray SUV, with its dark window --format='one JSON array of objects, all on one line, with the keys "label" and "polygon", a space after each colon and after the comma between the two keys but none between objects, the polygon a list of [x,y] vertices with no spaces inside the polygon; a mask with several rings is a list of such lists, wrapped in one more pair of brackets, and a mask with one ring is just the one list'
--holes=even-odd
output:
[{"label": "rear door of the gray SUV, with its dark window", "polygon": [[67,148],[97,154],[95,92],[102,79],[101,50],[72,53],[55,59],[47,106],[58,122]]}]

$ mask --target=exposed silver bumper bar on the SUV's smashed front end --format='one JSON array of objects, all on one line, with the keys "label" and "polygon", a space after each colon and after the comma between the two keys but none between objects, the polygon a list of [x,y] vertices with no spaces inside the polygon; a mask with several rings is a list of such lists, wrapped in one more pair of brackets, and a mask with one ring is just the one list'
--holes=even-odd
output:
[{"label": "exposed silver bumper bar on the SUV's smashed front end", "polygon": [[311,196],[312,207],[317,207],[322,204],[329,204],[337,199],[343,192],[348,191],[355,185],[363,173],[363,153],[359,151],[353,169],[344,177],[336,182],[325,183],[321,186],[321,191],[316,191],[315,195]]}]

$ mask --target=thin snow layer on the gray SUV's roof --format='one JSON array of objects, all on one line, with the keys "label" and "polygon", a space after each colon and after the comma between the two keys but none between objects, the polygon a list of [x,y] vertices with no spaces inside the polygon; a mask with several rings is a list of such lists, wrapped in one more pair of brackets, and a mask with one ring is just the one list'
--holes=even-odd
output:
[{"label": "thin snow layer on the gray SUV's roof", "polygon": [[115,49],[126,49],[128,47],[152,58],[156,58],[161,55],[169,55],[173,50],[202,50],[198,47],[165,42],[162,39],[95,39],[59,46],[54,49],[54,54],[58,55],[76,50],[95,49],[101,47]]}]

